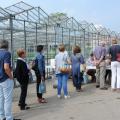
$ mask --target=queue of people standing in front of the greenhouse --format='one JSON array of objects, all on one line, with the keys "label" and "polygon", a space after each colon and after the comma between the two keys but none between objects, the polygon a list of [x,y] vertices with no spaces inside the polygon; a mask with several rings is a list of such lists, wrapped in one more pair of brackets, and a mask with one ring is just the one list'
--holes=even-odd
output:
[{"label": "queue of people standing in front of the greenhouse", "polygon": [[[11,67],[11,53],[8,51],[8,41],[0,41],[0,120],[20,120],[12,116],[12,98],[13,98],[13,75]],[[61,90],[63,88],[64,98],[70,97],[68,93],[68,79],[72,73],[73,85],[77,92],[82,90],[83,75],[86,73],[91,76],[91,81],[96,82],[96,88],[107,90],[106,80],[111,79],[112,91],[120,91],[120,45],[117,40],[112,40],[112,45],[107,49],[104,42],[96,46],[90,54],[90,58],[85,62],[78,45],[73,47],[73,53],[69,56],[63,44],[58,47],[59,52],[55,56],[55,74],[57,77],[57,97],[62,98]],[[36,75],[36,96],[39,103],[47,103],[43,93],[39,92],[39,86],[45,82],[45,57],[43,55],[43,45],[38,45],[34,59],[34,71]],[[29,72],[33,69],[33,64],[28,66],[25,58],[26,51],[22,48],[17,50],[17,62],[14,76],[20,83],[21,94],[18,101],[20,110],[27,110],[30,107],[26,103],[27,89],[29,83]],[[95,69],[84,69],[81,71],[81,65],[94,66]],[[111,69],[107,69],[107,67]],[[111,74],[112,73],[112,74]],[[109,76],[109,77],[108,77]],[[112,76],[112,77],[111,77]]]}]

